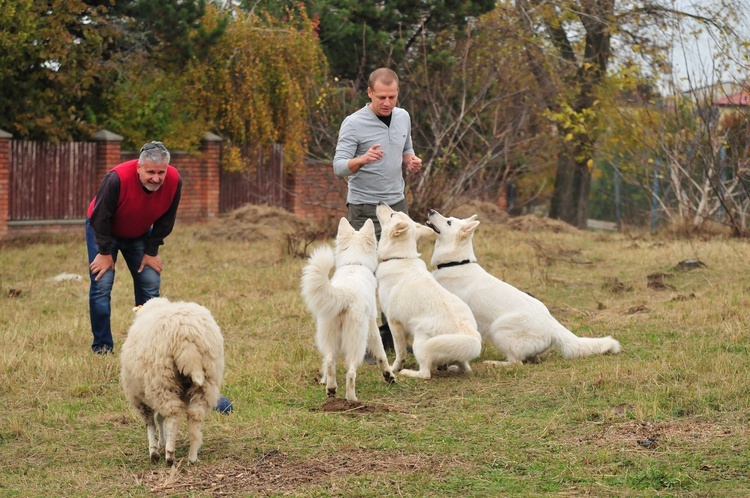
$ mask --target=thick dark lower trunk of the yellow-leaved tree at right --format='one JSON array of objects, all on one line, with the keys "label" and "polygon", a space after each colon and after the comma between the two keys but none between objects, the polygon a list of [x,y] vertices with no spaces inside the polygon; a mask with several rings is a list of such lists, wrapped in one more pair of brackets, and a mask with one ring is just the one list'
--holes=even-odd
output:
[{"label": "thick dark lower trunk of the yellow-leaved tree at right", "polygon": [[555,190],[552,193],[550,218],[585,229],[589,213],[591,172],[576,161],[576,154],[565,148],[557,158]]}]

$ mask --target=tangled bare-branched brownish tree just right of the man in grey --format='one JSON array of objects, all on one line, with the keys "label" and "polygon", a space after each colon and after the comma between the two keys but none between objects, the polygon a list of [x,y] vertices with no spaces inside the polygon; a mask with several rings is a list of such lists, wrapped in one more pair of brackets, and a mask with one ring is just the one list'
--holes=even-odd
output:
[{"label": "tangled bare-branched brownish tree just right of the man in grey", "polygon": [[461,36],[434,34],[418,45],[421,57],[402,66],[424,161],[419,175],[407,175],[415,212],[467,199],[504,203],[510,188],[518,204],[531,203],[544,190],[549,127],[534,79],[520,70],[522,49],[506,41],[511,28],[499,11],[486,14]]}]

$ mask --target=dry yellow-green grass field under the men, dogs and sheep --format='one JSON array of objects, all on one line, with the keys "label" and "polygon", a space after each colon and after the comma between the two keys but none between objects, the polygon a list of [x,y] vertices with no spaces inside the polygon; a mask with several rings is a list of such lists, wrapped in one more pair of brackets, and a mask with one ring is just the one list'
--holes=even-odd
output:
[{"label": "dry yellow-green grass field under the men, dogs and sheep", "polygon": [[[161,251],[162,295],[222,327],[235,406],[206,420],[195,466],[183,425],[171,469],[149,461],[118,357],[90,352],[83,230],[0,245],[0,496],[750,495],[746,241],[483,223],[488,271],[623,352],[504,369],[487,346],[473,374],[391,386],[363,365],[362,405],[341,409],[316,382],[295,238],[222,223],[178,222]],[[121,262],[116,351],[132,306]]]}]

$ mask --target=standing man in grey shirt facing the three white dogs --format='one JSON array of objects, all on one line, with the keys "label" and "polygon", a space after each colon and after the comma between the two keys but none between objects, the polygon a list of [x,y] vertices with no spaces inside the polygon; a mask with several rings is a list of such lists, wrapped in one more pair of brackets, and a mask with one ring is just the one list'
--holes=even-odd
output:
[{"label": "standing man in grey shirt facing the three white dogs", "polygon": [[[380,222],[375,214],[384,202],[394,211],[409,213],[404,195],[402,168],[412,173],[422,169],[411,142],[411,117],[396,107],[398,76],[381,67],[370,74],[367,96],[370,103],[341,123],[333,171],[348,178],[346,205],[349,223],[357,230],[369,218],[380,240]],[[388,322],[381,316],[383,344],[392,347]]]}]

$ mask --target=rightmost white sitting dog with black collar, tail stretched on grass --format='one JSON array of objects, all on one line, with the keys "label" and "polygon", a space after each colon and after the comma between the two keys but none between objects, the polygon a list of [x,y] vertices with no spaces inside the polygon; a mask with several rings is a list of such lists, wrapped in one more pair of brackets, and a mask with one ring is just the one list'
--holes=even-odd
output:
[{"label": "rightmost white sitting dog with black collar, tail stretched on grass", "polygon": [[542,302],[487,273],[474,255],[475,218],[445,218],[433,209],[427,226],[437,234],[432,274],[469,305],[482,337],[505,354],[507,361],[490,363],[536,361],[550,348],[566,359],[620,352],[620,343],[611,337],[577,337]]}]

